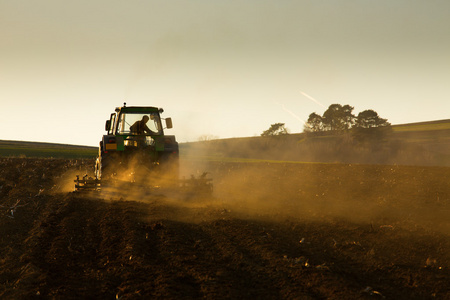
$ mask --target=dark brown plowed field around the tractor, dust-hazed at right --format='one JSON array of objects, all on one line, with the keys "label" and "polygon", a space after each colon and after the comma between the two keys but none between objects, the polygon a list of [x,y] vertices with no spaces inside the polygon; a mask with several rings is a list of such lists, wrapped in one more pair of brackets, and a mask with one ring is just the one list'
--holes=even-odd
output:
[{"label": "dark brown plowed field around the tractor, dust-hazed at right", "polygon": [[213,196],[76,194],[93,161],[0,159],[0,298],[450,298],[450,168],[184,164]]}]

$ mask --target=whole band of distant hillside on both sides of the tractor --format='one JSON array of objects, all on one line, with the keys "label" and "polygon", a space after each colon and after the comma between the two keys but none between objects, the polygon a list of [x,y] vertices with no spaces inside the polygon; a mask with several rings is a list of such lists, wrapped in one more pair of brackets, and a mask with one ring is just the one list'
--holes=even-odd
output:
[{"label": "whole band of distant hillside on both sides of the tractor", "polygon": [[[349,132],[302,132],[184,142],[180,143],[180,155],[228,161],[450,166],[450,119],[395,124],[391,128],[389,139],[377,144],[355,143]],[[93,146],[0,140],[3,157],[95,158],[97,151]]]}]

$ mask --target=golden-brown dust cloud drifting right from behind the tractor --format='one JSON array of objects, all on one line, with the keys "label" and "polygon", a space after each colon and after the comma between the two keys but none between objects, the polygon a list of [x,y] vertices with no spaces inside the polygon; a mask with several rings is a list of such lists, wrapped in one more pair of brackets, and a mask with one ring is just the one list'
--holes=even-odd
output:
[{"label": "golden-brown dust cloud drifting right from behind the tractor", "polygon": [[[163,210],[167,218],[186,222],[342,219],[374,228],[422,226],[450,232],[448,167],[251,160],[255,149],[247,149],[245,143],[239,148],[223,141],[208,143],[208,147],[182,149],[178,170],[166,166],[164,172],[155,173],[142,168],[139,159],[132,160],[115,185],[102,188],[98,195],[106,200],[152,202],[153,209]],[[279,155],[289,153],[283,150],[283,142],[275,147]],[[223,158],[233,156],[241,161]],[[176,178],[164,175],[178,173],[182,180],[189,180],[205,172],[213,180],[212,195],[182,189]],[[63,189],[73,190],[73,184]]]}]

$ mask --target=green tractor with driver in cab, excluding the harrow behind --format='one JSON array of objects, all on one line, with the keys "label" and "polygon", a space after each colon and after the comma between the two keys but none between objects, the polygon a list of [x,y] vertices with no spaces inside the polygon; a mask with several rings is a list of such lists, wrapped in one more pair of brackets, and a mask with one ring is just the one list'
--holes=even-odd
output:
[{"label": "green tractor with driver in cab, excluding the harrow behind", "polygon": [[[111,179],[150,171],[158,178],[178,179],[178,143],[165,135],[163,110],[156,107],[117,107],[106,121],[100,142],[95,178]],[[165,119],[172,128],[172,119]]]}]

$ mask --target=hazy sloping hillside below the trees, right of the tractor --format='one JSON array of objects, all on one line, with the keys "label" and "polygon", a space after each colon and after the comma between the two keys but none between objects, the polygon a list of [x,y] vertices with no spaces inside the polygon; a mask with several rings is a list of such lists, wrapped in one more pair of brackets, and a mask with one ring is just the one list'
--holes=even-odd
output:
[{"label": "hazy sloping hillside below the trees, right of the tractor", "polygon": [[393,125],[382,140],[353,132],[299,133],[186,143],[181,154],[209,159],[450,166],[450,119]]}]

